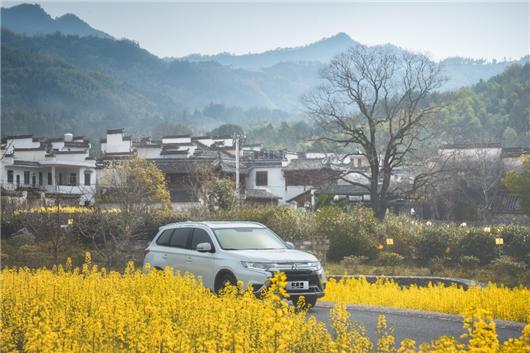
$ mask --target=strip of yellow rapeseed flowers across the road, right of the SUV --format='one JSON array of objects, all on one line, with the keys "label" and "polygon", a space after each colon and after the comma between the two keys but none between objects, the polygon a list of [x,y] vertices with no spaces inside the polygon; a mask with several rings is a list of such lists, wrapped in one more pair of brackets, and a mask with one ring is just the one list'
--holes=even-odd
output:
[{"label": "strip of yellow rapeseed flowers across the road, right of the SUV", "polygon": [[467,308],[476,307],[493,313],[496,319],[529,322],[530,289],[507,288],[488,284],[486,288],[472,287],[464,290],[456,285],[442,284],[428,287],[400,287],[380,279],[369,283],[365,278],[330,280],[326,296],[322,299],[343,304],[369,304],[399,308],[439,311],[463,315]]}]

